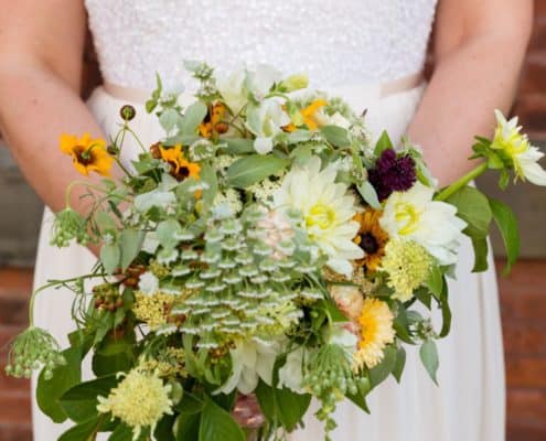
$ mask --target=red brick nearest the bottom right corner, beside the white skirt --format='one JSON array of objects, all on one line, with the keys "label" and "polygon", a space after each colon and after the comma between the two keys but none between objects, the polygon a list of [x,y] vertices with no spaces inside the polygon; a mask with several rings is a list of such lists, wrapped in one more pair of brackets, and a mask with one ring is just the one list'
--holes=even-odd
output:
[{"label": "red brick nearest the bottom right corner, beside the white skirt", "polygon": [[506,417],[510,422],[518,424],[536,426],[546,422],[546,390],[508,390]]}]

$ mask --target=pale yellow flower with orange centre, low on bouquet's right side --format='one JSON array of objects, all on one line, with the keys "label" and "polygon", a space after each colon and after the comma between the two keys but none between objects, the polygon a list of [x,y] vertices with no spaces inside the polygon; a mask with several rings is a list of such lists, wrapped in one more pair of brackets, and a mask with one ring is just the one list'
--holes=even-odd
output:
[{"label": "pale yellow flower with orange centre, low on bouquet's right side", "polygon": [[357,321],[360,340],[353,364],[356,372],[364,366],[372,368],[381,363],[385,346],[394,342],[393,320],[387,303],[375,298],[364,300]]}]

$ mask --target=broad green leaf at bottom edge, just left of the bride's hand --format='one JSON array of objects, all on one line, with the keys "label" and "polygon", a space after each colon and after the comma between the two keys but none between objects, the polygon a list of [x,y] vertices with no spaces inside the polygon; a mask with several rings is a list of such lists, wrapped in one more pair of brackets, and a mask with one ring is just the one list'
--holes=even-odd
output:
[{"label": "broad green leaf at bottom edge, just left of the bride's hand", "polygon": [[246,441],[246,437],[232,416],[205,396],[199,441]]}]

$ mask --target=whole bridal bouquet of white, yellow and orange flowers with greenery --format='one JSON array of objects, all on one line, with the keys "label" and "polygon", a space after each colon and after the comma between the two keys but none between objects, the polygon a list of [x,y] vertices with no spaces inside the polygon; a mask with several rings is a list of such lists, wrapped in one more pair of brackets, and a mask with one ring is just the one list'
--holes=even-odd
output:
[{"label": "whole bridal bouquet of white, yellow and orange flowers with greenery", "polygon": [[[480,165],[438,191],[417,147],[395,148],[386,133],[372,144],[364,117],[308,90],[303,75],[188,68],[200,84],[193,103],[158,78],[146,104],[165,132],[153,146],[131,129],[131,106],[108,143],[61,138],[79,172],[105,178],[74,183],[89,209],[57,213],[53,243],[99,244],[99,260],[44,287],[75,292],[69,347],[32,324],[31,304],[7,369],[42,368],[41,409],[75,422],[61,440],[286,439],[311,398],[328,433],[338,402],[367,411],[378,384],[400,380],[406,345],[420,345],[436,381],[462,236],[475,271],[492,220],[508,267],[517,256],[511,209],[468,184],[488,169],[501,187],[512,172],[546,184],[517,121],[497,112],[494,138],[473,147]],[[141,148],[130,164],[127,137]],[[432,309],[441,329],[422,313]],[[83,381],[87,355],[96,378]],[[260,412],[242,419],[253,400]]]}]

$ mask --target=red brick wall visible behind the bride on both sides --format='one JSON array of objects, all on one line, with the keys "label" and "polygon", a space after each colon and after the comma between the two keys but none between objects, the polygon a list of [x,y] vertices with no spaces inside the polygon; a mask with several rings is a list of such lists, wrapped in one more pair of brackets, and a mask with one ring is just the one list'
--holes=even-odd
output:
[{"label": "red brick wall visible behind the bride on both sides", "polygon": [[[546,141],[546,0],[536,1],[535,15],[533,42],[514,111],[535,139]],[[94,60],[89,49],[85,56],[84,95],[99,82]],[[544,197],[533,200],[528,205],[535,212],[529,213],[544,212],[542,201]],[[500,277],[508,398],[507,441],[546,440],[545,247],[543,244],[544,258],[522,260],[511,277]],[[536,246],[533,249],[526,255],[538,256]],[[25,324],[31,282],[30,269],[0,269],[0,348]],[[2,370],[6,355],[4,351],[0,352]],[[30,439],[29,383],[0,374],[0,440]]]}]

